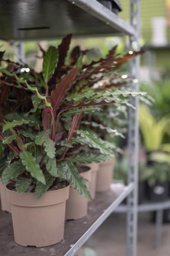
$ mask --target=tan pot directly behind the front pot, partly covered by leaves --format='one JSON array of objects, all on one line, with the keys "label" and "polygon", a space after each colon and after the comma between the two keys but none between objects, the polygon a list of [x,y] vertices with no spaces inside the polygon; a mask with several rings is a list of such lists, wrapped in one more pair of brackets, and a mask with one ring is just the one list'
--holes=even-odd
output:
[{"label": "tan pot directly behind the front pot, partly covered by leaves", "polygon": [[[87,179],[91,180],[91,169],[88,171],[81,172],[81,175]],[[86,183],[89,189],[89,182]],[[81,196],[76,189],[70,185],[69,198],[66,202],[66,219],[81,219],[88,213],[88,199]]]}]

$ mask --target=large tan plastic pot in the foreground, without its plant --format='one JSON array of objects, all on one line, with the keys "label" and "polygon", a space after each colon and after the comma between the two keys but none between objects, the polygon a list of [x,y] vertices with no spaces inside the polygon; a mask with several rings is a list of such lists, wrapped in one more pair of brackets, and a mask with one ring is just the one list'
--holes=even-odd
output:
[{"label": "large tan plastic pot in the foreground, without its plant", "polygon": [[11,203],[15,242],[43,247],[61,241],[70,186],[46,192],[36,200],[35,193],[19,194],[10,190],[11,185],[7,185],[7,198]]}]

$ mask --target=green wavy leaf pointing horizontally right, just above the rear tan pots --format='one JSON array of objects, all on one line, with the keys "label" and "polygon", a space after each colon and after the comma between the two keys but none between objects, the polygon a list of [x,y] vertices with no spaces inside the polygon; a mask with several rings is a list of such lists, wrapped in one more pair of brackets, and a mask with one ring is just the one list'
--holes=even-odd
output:
[{"label": "green wavy leaf pointing horizontally right, just above the rear tan pots", "polygon": [[70,161],[81,165],[81,164],[105,162],[111,159],[113,159],[113,156],[110,156],[110,155],[79,154],[79,155],[72,156],[70,158]]}]

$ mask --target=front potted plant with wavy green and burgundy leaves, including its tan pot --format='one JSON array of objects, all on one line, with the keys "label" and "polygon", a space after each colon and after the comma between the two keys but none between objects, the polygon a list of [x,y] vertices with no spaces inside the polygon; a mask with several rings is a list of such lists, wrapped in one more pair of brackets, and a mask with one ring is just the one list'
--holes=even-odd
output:
[{"label": "front potted plant with wavy green and burgundy leaves, including its tan pot", "polygon": [[[32,100],[32,108],[25,117],[3,124],[0,132],[0,139],[17,155],[8,161],[2,182],[12,181],[7,185],[7,196],[12,208],[15,241],[25,246],[46,246],[62,240],[69,183],[80,195],[91,199],[78,165],[113,158],[110,143],[95,133],[79,129],[82,112],[91,112],[96,105],[126,105],[129,104],[127,96],[139,95],[94,88],[98,73],[103,77],[113,70],[113,52],[90,65],[82,64],[84,52],[72,52],[70,63],[65,64],[70,40],[68,35],[58,48],[51,46],[46,52],[42,50],[41,74],[30,68],[29,74],[0,69],[2,90],[12,86],[29,92]],[[116,67],[136,54],[117,58]],[[36,115],[42,116],[41,123],[32,120]],[[97,158],[93,154],[84,155],[81,144],[100,154]]]}]

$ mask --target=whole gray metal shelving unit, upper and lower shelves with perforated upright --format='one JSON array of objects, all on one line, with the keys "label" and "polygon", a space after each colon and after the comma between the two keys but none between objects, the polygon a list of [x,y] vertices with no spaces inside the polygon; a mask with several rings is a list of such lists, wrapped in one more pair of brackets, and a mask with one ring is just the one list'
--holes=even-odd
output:
[{"label": "whole gray metal shelving unit, upper and lower shelves with perforated upright", "polygon": [[[139,0],[130,0],[130,24],[123,21],[97,0],[0,0],[0,38],[24,41],[61,38],[72,32],[75,37],[129,36],[130,51],[139,49]],[[13,15],[11,15],[13,14]],[[21,45],[21,48],[19,47]],[[17,58],[22,44],[15,48]],[[139,89],[139,56],[130,60],[131,89]],[[12,235],[10,214],[0,213],[0,250],[5,256],[73,256],[105,219],[128,197],[127,252],[137,255],[138,198],[138,98],[132,98],[136,110],[129,108],[129,175],[123,192],[100,193],[89,203],[88,216],[66,223],[65,240],[45,248],[16,245]],[[3,231],[2,231],[3,230]]]}]

